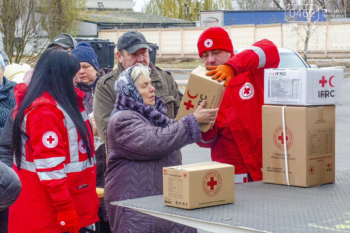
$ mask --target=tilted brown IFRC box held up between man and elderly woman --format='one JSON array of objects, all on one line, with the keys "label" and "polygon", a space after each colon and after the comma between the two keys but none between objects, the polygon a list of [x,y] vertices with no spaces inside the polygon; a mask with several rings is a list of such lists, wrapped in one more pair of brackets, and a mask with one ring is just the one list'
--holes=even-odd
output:
[{"label": "tilted brown IFRC box held up between man and elderly woman", "polygon": [[[203,66],[198,66],[191,72],[186,86],[185,93],[182,97],[179,111],[177,112],[176,121],[182,117],[195,112],[198,105],[203,100],[207,100],[206,109],[218,108],[224,96],[225,82],[212,80],[212,76],[207,76],[208,70]],[[210,124],[200,124],[202,132],[207,132]]]}]

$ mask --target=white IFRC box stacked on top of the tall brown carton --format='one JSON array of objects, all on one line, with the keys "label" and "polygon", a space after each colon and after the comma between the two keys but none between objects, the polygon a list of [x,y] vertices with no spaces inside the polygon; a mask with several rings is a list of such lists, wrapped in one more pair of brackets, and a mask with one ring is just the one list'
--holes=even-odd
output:
[{"label": "white IFRC box stacked on top of the tall brown carton", "polygon": [[343,69],[265,69],[264,103],[342,104]]}]

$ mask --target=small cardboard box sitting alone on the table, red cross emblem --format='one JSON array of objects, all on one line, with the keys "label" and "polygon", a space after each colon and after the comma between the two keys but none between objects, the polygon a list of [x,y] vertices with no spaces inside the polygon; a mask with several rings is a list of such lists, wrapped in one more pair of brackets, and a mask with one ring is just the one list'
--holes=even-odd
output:
[{"label": "small cardboard box sitting alone on the table, red cross emblem", "polygon": [[164,205],[182,209],[235,202],[235,166],[203,162],[163,168]]}]

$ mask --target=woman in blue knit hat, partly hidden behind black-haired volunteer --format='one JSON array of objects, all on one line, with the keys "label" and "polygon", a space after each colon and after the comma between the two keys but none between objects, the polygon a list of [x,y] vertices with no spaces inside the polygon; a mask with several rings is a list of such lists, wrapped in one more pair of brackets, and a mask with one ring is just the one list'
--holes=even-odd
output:
[{"label": "woman in blue knit hat, partly hidden behind black-haired volunteer", "polygon": [[[99,70],[97,55],[87,43],[79,43],[75,49],[71,51],[80,62],[80,70],[78,77],[80,82],[77,83],[77,88],[85,92],[84,95],[84,107],[87,114],[91,118],[92,131],[94,136],[94,144],[96,150],[96,187],[104,188],[105,180],[104,173],[106,172],[106,147],[102,144],[101,139],[98,136],[96,125],[93,118],[92,101],[94,97],[94,90],[96,87],[97,80],[105,75],[103,70]],[[96,224],[96,232],[111,232],[110,226],[107,219],[107,211],[103,201],[100,201],[100,208],[98,211],[98,217],[100,221]]]}]

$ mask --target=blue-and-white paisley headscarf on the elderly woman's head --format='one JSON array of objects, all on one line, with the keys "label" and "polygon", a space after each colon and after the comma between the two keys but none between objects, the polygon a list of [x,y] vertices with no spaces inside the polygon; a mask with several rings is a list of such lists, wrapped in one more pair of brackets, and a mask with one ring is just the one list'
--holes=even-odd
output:
[{"label": "blue-and-white paisley headscarf on the elderly woman's head", "polygon": [[114,83],[114,89],[121,96],[131,97],[137,102],[144,103],[139,90],[131,78],[131,69],[134,67],[129,67],[119,74],[117,81]]}]

